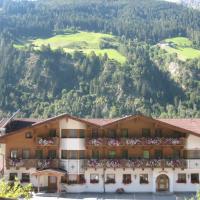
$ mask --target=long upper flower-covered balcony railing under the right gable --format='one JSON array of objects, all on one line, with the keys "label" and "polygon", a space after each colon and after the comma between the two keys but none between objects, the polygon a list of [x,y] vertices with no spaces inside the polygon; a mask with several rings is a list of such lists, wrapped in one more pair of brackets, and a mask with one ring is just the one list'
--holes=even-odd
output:
[{"label": "long upper flower-covered balcony railing under the right gable", "polygon": [[135,146],[135,145],[184,145],[185,138],[97,138],[97,139],[87,139],[86,145],[92,146]]}]

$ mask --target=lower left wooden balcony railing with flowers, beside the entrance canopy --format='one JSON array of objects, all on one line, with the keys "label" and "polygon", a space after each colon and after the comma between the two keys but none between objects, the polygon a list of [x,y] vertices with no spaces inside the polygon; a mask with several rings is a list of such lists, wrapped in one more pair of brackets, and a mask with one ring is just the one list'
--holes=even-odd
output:
[{"label": "lower left wooden balcony railing with flowers, beside the entrance canopy", "polygon": [[48,169],[48,168],[59,168],[58,159],[7,159],[6,167],[20,168],[25,167],[26,169]]}]

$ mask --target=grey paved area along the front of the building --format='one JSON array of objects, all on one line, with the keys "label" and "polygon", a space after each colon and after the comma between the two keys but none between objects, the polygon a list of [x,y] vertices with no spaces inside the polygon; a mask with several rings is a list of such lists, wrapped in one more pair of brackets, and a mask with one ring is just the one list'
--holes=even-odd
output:
[{"label": "grey paved area along the front of the building", "polygon": [[174,194],[152,194],[152,193],[130,193],[130,194],[62,194],[58,197],[55,193],[52,194],[37,194],[32,200],[189,200],[195,196],[194,193],[174,193]]}]

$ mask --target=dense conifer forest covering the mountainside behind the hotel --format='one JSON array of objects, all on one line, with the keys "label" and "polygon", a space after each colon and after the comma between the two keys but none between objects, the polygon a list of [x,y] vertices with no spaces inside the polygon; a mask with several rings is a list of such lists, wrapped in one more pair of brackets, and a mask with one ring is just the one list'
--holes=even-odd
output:
[{"label": "dense conifer forest covering the mountainside behind the hotel", "polygon": [[[187,37],[200,49],[199,19],[198,10],[156,0],[0,0],[0,114],[200,117],[200,58],[181,61],[156,45]],[[14,46],[66,29],[116,36],[126,62]]]}]

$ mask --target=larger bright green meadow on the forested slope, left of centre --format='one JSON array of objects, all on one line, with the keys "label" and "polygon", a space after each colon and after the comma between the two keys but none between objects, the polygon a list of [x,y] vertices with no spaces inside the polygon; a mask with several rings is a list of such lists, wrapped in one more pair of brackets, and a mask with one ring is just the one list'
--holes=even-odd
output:
[{"label": "larger bright green meadow on the forested slope, left of centre", "polygon": [[77,32],[58,34],[53,37],[45,39],[35,39],[24,41],[23,44],[15,44],[16,48],[23,48],[27,44],[32,43],[35,49],[40,49],[42,45],[50,45],[51,49],[55,50],[63,48],[66,52],[83,51],[89,54],[94,51],[97,55],[104,55],[107,53],[110,59],[114,59],[120,63],[126,61],[126,57],[118,52],[115,48],[100,49],[99,45],[102,40],[106,40],[114,46],[118,46],[118,40],[109,34],[94,33],[94,32]]}]

